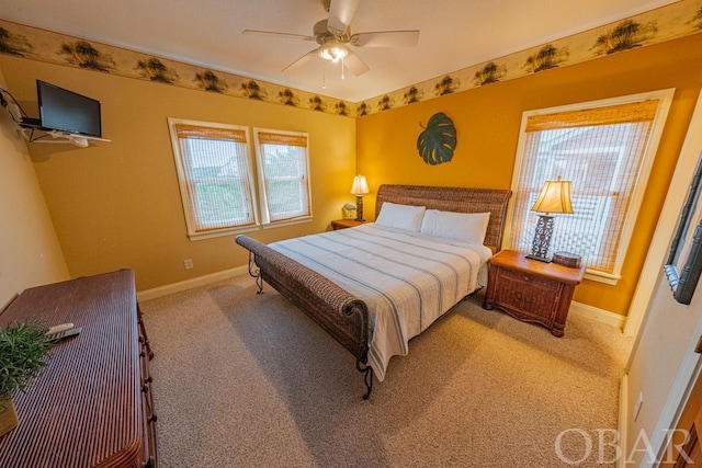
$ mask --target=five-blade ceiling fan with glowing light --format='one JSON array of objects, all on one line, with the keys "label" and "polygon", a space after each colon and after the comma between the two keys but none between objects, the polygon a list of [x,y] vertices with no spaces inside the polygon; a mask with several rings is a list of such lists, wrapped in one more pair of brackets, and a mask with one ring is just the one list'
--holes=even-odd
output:
[{"label": "five-blade ceiling fan with glowing light", "polygon": [[335,64],[341,61],[342,73],[343,66],[346,66],[353,75],[360,76],[369,71],[369,67],[361,60],[361,57],[349,48],[349,45],[354,47],[411,47],[417,45],[419,42],[418,30],[351,34],[349,25],[360,1],[361,0],[321,0],[322,5],[329,12],[329,18],[318,21],[315,24],[312,36],[259,30],[244,30],[242,34],[315,41],[319,44],[319,47],[303,55],[285,67],[283,71],[293,70],[307,64],[315,57],[319,57]]}]

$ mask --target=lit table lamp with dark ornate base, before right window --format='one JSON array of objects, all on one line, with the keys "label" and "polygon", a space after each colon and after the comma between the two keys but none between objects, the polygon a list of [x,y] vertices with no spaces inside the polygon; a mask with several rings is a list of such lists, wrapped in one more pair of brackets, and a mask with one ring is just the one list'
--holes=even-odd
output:
[{"label": "lit table lamp with dark ornate base, before right window", "polygon": [[536,203],[531,207],[532,212],[543,213],[539,215],[534,240],[531,244],[531,253],[528,259],[541,262],[551,262],[548,249],[551,237],[553,236],[553,216],[557,213],[573,213],[570,204],[570,181],[562,181],[561,175],[555,181],[544,182],[544,187],[536,198]]}]

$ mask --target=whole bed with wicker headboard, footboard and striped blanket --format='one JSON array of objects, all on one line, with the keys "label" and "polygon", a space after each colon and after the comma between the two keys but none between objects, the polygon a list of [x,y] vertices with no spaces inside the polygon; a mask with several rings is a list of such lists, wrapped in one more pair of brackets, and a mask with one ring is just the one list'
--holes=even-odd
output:
[{"label": "whole bed with wicker headboard, footboard and striped blanket", "polygon": [[[486,285],[486,262],[501,246],[510,196],[508,190],[386,184],[377,192],[374,224],[270,246],[248,236],[236,242],[249,250],[259,294],[263,282],[270,284],[355,356],[367,399],[392,356],[407,354],[411,338]],[[422,231],[403,225],[416,213],[419,222],[427,214]],[[424,229],[429,215],[455,218],[452,213],[489,213],[483,244]],[[472,216],[482,215],[461,217]]]}]

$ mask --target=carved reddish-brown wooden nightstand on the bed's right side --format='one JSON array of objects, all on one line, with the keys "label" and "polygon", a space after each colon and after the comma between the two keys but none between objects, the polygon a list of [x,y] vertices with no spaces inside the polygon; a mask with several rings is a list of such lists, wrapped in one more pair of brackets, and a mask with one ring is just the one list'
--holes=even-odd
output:
[{"label": "carved reddish-brown wooden nightstand on the bed's right side", "polygon": [[575,287],[585,275],[576,269],[525,258],[525,253],[502,250],[489,262],[484,309],[497,307],[526,322],[541,323],[555,336],[563,336]]}]

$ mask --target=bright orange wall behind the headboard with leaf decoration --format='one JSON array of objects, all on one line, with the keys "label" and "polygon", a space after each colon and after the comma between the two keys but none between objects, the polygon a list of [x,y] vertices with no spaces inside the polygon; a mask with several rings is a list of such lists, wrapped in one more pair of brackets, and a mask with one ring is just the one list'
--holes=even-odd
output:
[{"label": "bright orange wall behind the headboard with leaf decoration", "polygon": [[[522,113],[529,110],[676,88],[642,213],[615,286],[585,281],[575,300],[626,315],[702,84],[702,34],[563,69],[449,94],[356,121],[356,167],[371,191],[381,183],[509,189]],[[451,162],[428,165],[416,141],[437,112],[453,119]],[[365,213],[373,216],[373,194]]]}]

